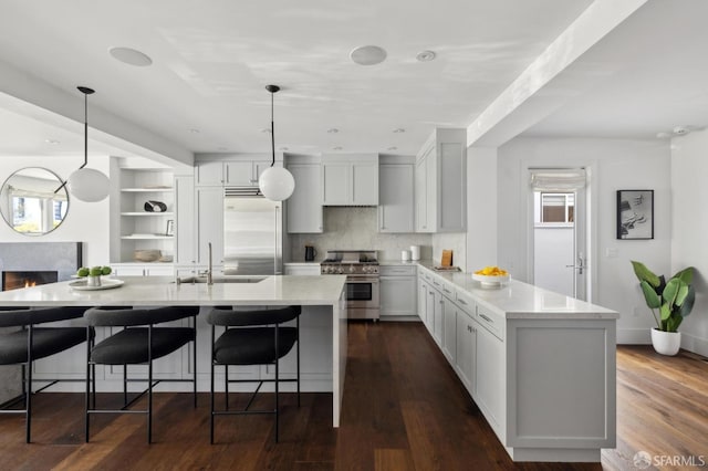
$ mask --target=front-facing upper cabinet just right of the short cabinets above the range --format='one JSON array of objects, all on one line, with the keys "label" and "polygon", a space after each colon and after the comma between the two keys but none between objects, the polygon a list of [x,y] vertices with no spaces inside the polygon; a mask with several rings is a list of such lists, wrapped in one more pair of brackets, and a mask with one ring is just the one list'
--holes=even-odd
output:
[{"label": "front-facing upper cabinet just right of the short cabinets above the range", "polygon": [[378,232],[414,232],[415,158],[381,156]]}]

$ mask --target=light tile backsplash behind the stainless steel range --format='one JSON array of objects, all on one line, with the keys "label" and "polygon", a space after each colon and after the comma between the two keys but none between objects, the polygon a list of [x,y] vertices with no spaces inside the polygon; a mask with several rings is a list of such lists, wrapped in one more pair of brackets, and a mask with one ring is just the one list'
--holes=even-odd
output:
[{"label": "light tile backsplash behind the stainless steel range", "polygon": [[[326,251],[333,249],[377,250],[379,260],[400,260],[400,251],[410,249],[410,245],[420,245],[420,258],[435,259],[431,234],[378,232],[375,207],[324,207],[323,210],[323,233],[290,234],[290,261],[304,261],[305,244],[314,245],[316,261],[324,259]],[[465,248],[464,238],[461,247]]]}]

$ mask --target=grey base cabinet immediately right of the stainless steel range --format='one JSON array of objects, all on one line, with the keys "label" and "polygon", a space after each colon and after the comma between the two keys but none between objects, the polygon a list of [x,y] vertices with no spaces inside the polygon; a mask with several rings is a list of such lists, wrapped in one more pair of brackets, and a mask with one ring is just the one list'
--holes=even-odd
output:
[{"label": "grey base cabinet immediately right of the stainless steel range", "polygon": [[416,268],[381,265],[381,316],[402,320],[416,315]]}]

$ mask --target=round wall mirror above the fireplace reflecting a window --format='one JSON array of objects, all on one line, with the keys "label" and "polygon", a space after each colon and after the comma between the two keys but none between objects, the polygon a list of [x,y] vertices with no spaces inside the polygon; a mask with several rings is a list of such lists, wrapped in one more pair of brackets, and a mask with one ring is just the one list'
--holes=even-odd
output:
[{"label": "round wall mirror above the fireplace reflecting a window", "polygon": [[[69,210],[69,192],[62,180],[45,168],[15,171],[0,189],[0,212],[15,231],[42,236],[56,229]],[[56,192],[54,192],[56,191]]]}]

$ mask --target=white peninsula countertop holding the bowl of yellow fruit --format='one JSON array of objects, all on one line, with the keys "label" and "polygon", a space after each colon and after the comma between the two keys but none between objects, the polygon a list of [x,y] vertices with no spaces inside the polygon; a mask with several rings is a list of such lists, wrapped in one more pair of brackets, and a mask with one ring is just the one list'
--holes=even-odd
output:
[{"label": "white peninsula countertop holding the bowl of yellow fruit", "polygon": [[618,318],[616,311],[559,294],[532,284],[510,280],[501,287],[482,287],[471,273],[438,272],[433,261],[417,262],[433,275],[440,278],[457,292],[475,299],[481,305],[506,318]]}]

